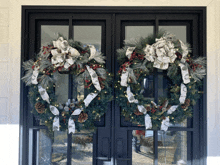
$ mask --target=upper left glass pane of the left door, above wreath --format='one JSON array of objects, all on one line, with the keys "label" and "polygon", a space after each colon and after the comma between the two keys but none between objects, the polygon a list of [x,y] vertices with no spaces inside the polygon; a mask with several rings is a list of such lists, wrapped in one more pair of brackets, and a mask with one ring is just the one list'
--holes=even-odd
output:
[{"label": "upper left glass pane of the left door, above wreath", "polygon": [[57,39],[58,34],[68,39],[67,25],[42,25],[41,26],[41,46],[45,46],[52,40]]}]

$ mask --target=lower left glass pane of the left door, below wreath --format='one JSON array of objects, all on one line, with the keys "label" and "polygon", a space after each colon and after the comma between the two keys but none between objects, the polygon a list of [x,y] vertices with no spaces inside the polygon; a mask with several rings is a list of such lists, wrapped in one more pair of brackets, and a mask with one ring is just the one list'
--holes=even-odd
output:
[{"label": "lower left glass pane of the left door, below wreath", "polygon": [[46,130],[37,132],[37,165],[66,165],[67,132],[55,131],[52,134]]}]

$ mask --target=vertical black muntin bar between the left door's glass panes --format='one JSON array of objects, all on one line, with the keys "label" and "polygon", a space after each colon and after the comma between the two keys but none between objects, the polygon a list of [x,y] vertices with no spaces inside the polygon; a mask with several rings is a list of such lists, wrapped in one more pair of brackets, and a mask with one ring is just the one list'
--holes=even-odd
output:
[{"label": "vertical black muntin bar between the left door's glass panes", "polygon": [[[69,39],[73,39],[73,22],[72,16],[69,18]],[[69,74],[69,87],[68,87],[68,99],[72,100],[73,96],[73,75]],[[67,131],[67,165],[71,165],[72,157],[72,134]]]}]

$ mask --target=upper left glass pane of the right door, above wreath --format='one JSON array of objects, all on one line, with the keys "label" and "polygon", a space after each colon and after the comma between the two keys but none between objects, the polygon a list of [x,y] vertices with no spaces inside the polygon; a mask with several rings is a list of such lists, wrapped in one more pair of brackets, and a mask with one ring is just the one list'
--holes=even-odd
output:
[{"label": "upper left glass pane of the right door, above wreath", "polygon": [[125,40],[139,39],[153,34],[154,26],[125,26]]}]

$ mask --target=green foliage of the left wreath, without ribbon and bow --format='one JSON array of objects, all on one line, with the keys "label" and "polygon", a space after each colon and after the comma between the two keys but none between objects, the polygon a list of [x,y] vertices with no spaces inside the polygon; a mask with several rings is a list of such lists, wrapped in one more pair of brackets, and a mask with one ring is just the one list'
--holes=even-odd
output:
[{"label": "green foliage of the left wreath, without ribbon and bow", "polygon": [[[69,40],[69,45],[78,50],[80,56],[75,59],[75,63],[71,65],[68,70],[64,70],[61,67],[54,67],[51,64],[51,53],[50,51],[54,49],[51,45],[48,45],[47,51],[42,47],[41,51],[38,55],[37,61],[28,61],[24,63],[24,68],[27,71],[23,80],[29,85],[29,93],[28,98],[30,103],[33,106],[32,113],[34,114],[36,119],[40,119],[42,124],[45,124],[49,133],[52,135],[52,124],[54,115],[50,111],[50,105],[55,106],[59,110],[59,122],[60,122],[60,131],[65,131],[68,129],[68,120],[69,118],[73,118],[75,120],[76,130],[80,131],[82,129],[91,129],[95,128],[95,121],[99,120],[101,116],[103,116],[106,111],[109,109],[109,102],[113,99],[112,97],[112,88],[110,85],[112,84],[112,75],[107,72],[103,63],[99,63],[94,59],[89,59],[90,57],[90,49],[89,47],[83,47],[83,44],[78,41]],[[102,54],[97,54],[96,57],[101,57]],[[101,58],[99,58],[101,59]],[[92,84],[91,77],[87,71],[86,65],[93,68],[94,71],[97,72],[99,83],[102,87],[102,90],[98,92],[94,85]],[[33,74],[34,66],[39,66],[39,75],[38,75],[38,84],[42,85],[43,88],[46,89],[49,98],[50,104],[44,101],[41,98],[40,93],[38,92],[38,84],[32,84],[31,78]],[[81,76],[83,81],[85,82],[86,93],[94,93],[98,92],[98,95],[92,100],[88,107],[85,107],[83,101],[79,101],[76,103],[74,108],[70,108],[69,111],[65,111],[57,102],[57,96],[55,95],[55,86],[56,86],[56,77],[58,74],[72,74],[74,79],[74,83],[77,82],[77,79]],[[86,95],[85,95],[86,98]],[[44,105],[44,112],[39,113],[36,109],[36,103],[42,103]],[[83,108],[83,112],[88,115],[88,119],[80,123],[78,118],[79,116],[72,116],[71,114],[77,108]]]}]

